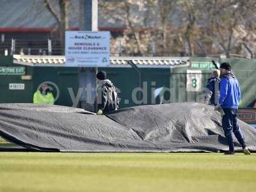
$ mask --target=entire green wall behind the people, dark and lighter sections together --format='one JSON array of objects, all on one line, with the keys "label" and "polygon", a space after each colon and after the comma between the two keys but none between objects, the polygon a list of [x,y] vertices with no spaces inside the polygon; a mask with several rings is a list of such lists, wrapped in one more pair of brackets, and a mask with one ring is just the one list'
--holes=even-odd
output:
[{"label": "entire green wall behind the people, dark and lighter sections together", "polygon": [[[191,58],[191,62],[208,62],[211,63],[212,58]],[[216,60],[217,61],[217,60]],[[232,68],[241,85],[241,92],[243,95],[241,107],[252,107],[256,97],[256,76],[255,76],[255,60],[246,59],[232,59],[223,60],[230,61]],[[1,56],[0,67],[22,66],[13,65],[12,57]],[[132,91],[138,88],[139,78],[138,72],[133,68],[98,68],[105,70],[108,78],[120,89],[119,97],[121,100],[121,108],[129,106],[136,106],[138,104],[159,104],[160,99],[157,97],[156,102],[152,92],[156,88],[170,88],[164,92],[165,102],[204,102],[204,87],[207,79],[211,76],[212,68],[193,68],[189,67],[180,68],[141,68],[142,81],[147,88],[144,100],[135,102],[132,99]],[[202,84],[200,91],[187,92],[187,70],[201,70]],[[67,67],[28,67],[26,66],[26,75],[31,75],[31,80],[22,80],[21,76],[3,76],[0,75],[0,102],[33,102],[33,93],[36,92],[39,84],[44,81],[51,81],[56,84],[60,89],[60,97],[56,104],[63,106],[72,106],[72,99],[68,88],[72,88],[72,93],[77,95],[78,90],[78,68]],[[156,82],[156,83],[154,83]],[[24,83],[25,90],[9,90],[10,83]],[[56,96],[56,88],[53,87],[52,92]],[[134,95],[134,94],[133,94]],[[137,99],[140,96],[137,94]]]}]

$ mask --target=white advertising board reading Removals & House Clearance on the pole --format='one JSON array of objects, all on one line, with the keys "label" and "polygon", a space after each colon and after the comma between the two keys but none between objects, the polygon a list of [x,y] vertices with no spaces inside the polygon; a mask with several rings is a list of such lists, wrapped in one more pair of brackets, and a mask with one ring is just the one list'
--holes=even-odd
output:
[{"label": "white advertising board reading Removals & House Clearance on the pole", "polygon": [[67,67],[106,67],[109,65],[109,31],[66,31]]}]

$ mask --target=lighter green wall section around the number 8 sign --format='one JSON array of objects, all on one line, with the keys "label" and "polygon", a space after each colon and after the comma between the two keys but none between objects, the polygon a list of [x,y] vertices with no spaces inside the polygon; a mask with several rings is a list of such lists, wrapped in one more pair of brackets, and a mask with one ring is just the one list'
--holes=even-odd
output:
[{"label": "lighter green wall section around the number 8 sign", "polygon": [[[213,58],[190,58],[191,63],[211,63]],[[214,58],[216,62],[229,62],[232,66],[232,71],[236,75],[242,93],[242,100],[239,104],[242,108],[252,108],[256,102],[256,60],[249,59],[218,59]],[[212,66],[213,67],[213,66]],[[204,102],[204,87],[207,79],[211,77],[211,72],[214,68],[198,67],[193,68],[192,65],[184,68],[173,68],[170,75],[170,86],[173,88],[172,102],[196,101]],[[187,70],[201,70],[202,84],[200,92],[186,92],[186,72]]]}]

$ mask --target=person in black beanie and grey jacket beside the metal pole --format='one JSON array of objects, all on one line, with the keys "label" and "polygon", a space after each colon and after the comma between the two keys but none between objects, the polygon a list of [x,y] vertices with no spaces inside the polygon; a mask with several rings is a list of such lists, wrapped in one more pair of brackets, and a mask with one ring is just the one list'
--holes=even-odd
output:
[{"label": "person in black beanie and grey jacket beside the metal pole", "polygon": [[97,115],[109,111],[116,111],[119,108],[117,91],[113,83],[107,79],[104,71],[97,73]]}]

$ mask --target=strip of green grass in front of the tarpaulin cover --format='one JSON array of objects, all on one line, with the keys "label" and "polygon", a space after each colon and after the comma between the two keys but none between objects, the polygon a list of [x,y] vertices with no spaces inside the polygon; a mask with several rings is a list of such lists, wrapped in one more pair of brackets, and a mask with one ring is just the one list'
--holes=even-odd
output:
[{"label": "strip of green grass in front of the tarpaulin cover", "polygon": [[0,152],[0,191],[255,191],[256,154]]}]

